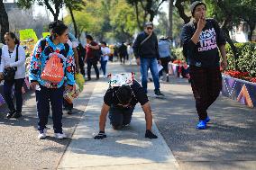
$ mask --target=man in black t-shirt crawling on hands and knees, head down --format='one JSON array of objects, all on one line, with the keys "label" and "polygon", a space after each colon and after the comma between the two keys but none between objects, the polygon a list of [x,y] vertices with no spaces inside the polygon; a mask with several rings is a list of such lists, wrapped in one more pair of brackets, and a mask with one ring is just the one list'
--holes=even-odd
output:
[{"label": "man in black t-shirt crawling on hands and knees, head down", "polygon": [[157,139],[158,137],[151,132],[151,104],[147,94],[145,94],[142,86],[137,81],[134,81],[133,85],[110,87],[106,91],[99,117],[99,133],[96,135],[95,139],[106,138],[105,121],[108,112],[108,117],[114,130],[120,130],[124,126],[129,125],[132,121],[133,110],[136,103],[141,103],[142,110],[145,113],[145,138]]}]

